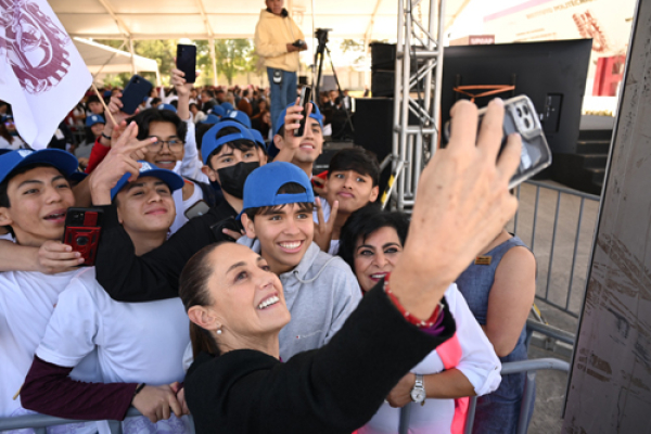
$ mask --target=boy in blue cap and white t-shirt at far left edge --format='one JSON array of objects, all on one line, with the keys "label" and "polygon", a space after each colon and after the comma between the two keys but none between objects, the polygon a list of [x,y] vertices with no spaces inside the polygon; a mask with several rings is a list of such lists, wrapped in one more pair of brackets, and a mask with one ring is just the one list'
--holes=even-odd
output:
[{"label": "boy in blue cap and white t-shirt at far left edge", "polygon": [[[18,150],[0,155],[0,226],[16,243],[39,247],[63,238],[65,214],[75,205],[66,180],[77,158],[61,150]],[[21,387],[59,294],[76,271],[0,273],[0,417],[25,413],[13,396]]]}]

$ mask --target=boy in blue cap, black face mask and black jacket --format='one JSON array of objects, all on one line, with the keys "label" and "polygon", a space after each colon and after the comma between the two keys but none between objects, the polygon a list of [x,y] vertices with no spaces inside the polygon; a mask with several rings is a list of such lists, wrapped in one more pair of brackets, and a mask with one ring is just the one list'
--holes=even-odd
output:
[{"label": "boy in blue cap, black face mask and black jacket", "polygon": [[[251,132],[243,125],[225,120],[210,127],[202,138],[203,170],[222,190],[224,201],[206,214],[191,219],[166,243],[138,257],[114,213],[104,215],[102,242],[95,266],[98,281],[119,302],[150,302],[178,296],[179,275],[202,247],[224,241],[225,234],[239,237],[225,225],[242,210],[244,181],[266,162]],[[93,195],[95,205],[108,199]],[[232,227],[232,226],[231,226]]]}]

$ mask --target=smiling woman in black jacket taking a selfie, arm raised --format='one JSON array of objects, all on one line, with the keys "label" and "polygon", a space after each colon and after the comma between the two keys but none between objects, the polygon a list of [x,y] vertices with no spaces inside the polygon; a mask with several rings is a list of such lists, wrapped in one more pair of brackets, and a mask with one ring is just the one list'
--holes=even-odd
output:
[{"label": "smiling woman in black jacket taking a selfie, arm raised", "polygon": [[478,140],[473,104],[459,102],[451,115],[448,148],[422,173],[400,259],[326,346],[278,359],[290,314],[280,281],[257,254],[216,244],[190,259],[180,296],[202,350],[186,378],[197,433],[349,434],[454,335],[444,293],[518,207],[508,181],[520,139],[510,137],[498,158],[500,100],[488,105]]}]

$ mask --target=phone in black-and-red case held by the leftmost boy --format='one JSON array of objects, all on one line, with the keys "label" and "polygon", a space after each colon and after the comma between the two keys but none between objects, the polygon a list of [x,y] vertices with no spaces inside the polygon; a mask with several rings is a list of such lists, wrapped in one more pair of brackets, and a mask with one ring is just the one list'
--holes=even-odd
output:
[{"label": "phone in black-and-red case held by the leftmost boy", "polygon": [[81,266],[91,267],[95,263],[103,215],[104,210],[100,208],[76,207],[68,208],[65,214],[63,243],[72,246],[73,252],[81,254]]}]

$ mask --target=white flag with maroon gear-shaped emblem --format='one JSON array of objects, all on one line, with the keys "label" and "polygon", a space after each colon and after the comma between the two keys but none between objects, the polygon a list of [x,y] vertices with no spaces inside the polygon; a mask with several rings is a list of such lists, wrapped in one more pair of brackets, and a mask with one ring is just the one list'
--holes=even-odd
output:
[{"label": "white flag with maroon gear-shaped emblem", "polygon": [[48,145],[92,82],[81,55],[46,0],[0,0],[0,100],[21,137]]}]

